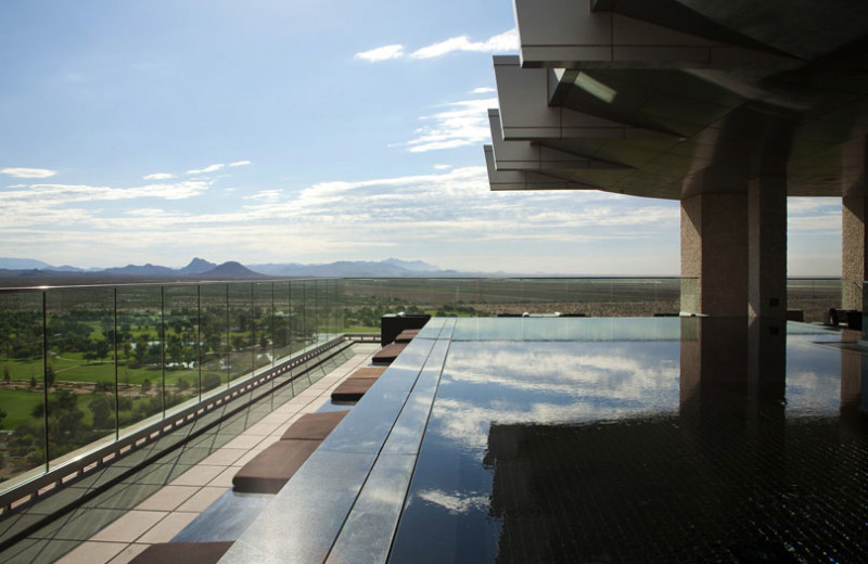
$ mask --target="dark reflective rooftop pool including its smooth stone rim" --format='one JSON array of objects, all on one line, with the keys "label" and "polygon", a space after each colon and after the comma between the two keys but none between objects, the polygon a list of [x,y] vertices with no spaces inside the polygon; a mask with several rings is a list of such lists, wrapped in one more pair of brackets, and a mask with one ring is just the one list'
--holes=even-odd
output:
[{"label": "dark reflective rooftop pool including its smooth stone rim", "polygon": [[[320,496],[310,518],[328,530],[297,553],[868,561],[859,336],[697,318],[434,319],[323,444],[323,462],[340,452],[365,475],[303,500]],[[276,502],[297,503],[298,488]],[[257,552],[241,542],[227,562],[307,542],[288,535]]]}]

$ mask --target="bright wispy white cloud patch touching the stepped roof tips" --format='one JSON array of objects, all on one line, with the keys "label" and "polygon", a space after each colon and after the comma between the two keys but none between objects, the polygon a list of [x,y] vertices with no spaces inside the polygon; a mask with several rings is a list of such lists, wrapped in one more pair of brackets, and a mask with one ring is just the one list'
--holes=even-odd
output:
[{"label": "bright wispy white cloud patch touching the stepped roof tips", "polygon": [[488,108],[497,107],[496,98],[464,100],[446,104],[445,112],[422,116],[430,123],[419,128],[417,138],[407,142],[410,152],[424,153],[464,145],[481,145],[492,138]]}]

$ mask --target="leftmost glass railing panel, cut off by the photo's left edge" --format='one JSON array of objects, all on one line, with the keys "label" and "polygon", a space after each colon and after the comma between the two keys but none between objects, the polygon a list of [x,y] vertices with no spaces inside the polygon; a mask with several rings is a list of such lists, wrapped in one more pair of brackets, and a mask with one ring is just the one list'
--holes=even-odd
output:
[{"label": "leftmost glass railing panel, cut off by the photo's left edge", "polygon": [[46,465],[42,360],[42,292],[0,293],[0,482]]}]

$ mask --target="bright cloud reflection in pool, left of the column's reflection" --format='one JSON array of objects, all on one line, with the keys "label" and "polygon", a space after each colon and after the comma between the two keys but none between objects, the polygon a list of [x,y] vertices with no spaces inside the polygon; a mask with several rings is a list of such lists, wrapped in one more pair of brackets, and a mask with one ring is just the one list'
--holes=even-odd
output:
[{"label": "bright cloud reflection in pool, left of the column's reflection", "polygon": [[678,342],[454,342],[429,432],[484,449],[492,423],[674,411],[678,375]]}]

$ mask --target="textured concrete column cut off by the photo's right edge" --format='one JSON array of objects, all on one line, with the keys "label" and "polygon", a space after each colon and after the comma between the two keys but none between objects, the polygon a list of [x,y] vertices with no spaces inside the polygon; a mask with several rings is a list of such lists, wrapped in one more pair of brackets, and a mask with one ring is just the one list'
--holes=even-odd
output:
[{"label": "textured concrete column cut off by the photo's right edge", "polygon": [[865,229],[866,208],[866,164],[868,164],[868,142],[865,138],[844,146],[843,194],[842,194],[842,257],[841,278],[843,284],[842,307],[863,309],[863,281],[868,280],[868,232]]}]

